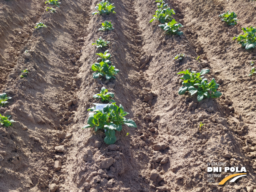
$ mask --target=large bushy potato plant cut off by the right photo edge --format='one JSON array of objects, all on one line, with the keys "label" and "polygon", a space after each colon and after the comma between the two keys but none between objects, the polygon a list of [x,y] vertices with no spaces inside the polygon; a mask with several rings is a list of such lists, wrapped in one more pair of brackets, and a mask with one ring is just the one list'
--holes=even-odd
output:
[{"label": "large bushy potato plant cut off by the right photo edge", "polygon": [[241,44],[245,49],[253,49],[256,46],[256,28],[247,27],[242,28],[244,35],[237,35],[233,38],[237,39],[238,44]]}]

